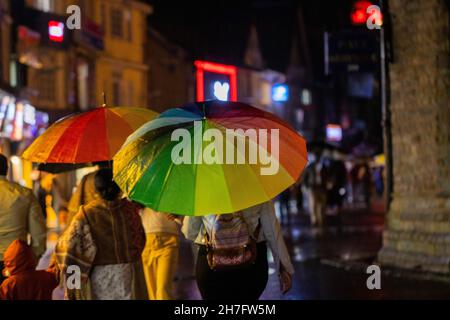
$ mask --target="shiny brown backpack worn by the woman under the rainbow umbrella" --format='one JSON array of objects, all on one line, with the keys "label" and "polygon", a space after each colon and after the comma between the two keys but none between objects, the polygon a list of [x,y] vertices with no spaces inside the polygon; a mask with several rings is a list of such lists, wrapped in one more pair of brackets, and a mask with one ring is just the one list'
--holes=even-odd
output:
[{"label": "shiny brown backpack worn by the woman under the rainbow umbrella", "polygon": [[217,215],[206,232],[207,260],[212,270],[239,269],[256,261],[260,223],[251,234],[242,212]]}]

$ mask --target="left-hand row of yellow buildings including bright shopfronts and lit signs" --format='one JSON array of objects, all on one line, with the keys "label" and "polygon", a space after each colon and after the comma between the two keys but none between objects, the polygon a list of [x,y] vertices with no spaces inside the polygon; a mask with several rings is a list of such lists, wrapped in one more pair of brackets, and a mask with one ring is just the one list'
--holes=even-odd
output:
[{"label": "left-hand row of yellow buildings including bright shopfronts and lit signs", "polygon": [[102,92],[110,106],[147,107],[151,12],[129,0],[0,1],[0,151],[13,180],[31,186],[23,150],[53,121],[101,105]]}]

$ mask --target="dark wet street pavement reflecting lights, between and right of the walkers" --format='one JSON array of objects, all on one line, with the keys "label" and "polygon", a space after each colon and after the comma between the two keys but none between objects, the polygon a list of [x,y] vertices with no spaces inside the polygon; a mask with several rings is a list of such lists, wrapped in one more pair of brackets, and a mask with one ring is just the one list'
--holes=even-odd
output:
[{"label": "dark wet street pavement reflecting lights, between and right of the walkers", "polygon": [[[303,214],[291,214],[283,233],[296,270],[293,287],[282,295],[273,260],[269,255],[269,281],[261,299],[450,299],[450,278],[444,281],[408,276],[408,272],[382,268],[381,290],[366,286],[366,267],[381,247],[382,212],[347,210],[340,218],[327,216],[324,228],[313,228]],[[49,250],[40,267],[48,264],[57,233],[49,233]],[[201,299],[195,278],[191,243],[183,240],[175,279],[178,299]],[[356,267],[355,267],[356,265]],[[54,299],[62,299],[56,291]]]}]

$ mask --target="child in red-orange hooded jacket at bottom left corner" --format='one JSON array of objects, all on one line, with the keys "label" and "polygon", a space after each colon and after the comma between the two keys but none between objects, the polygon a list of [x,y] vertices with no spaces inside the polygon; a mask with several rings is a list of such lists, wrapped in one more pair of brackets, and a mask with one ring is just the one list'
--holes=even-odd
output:
[{"label": "child in red-orange hooded jacket at bottom left corner", "polygon": [[0,286],[0,300],[52,300],[58,282],[54,273],[36,270],[37,259],[22,240],[14,240],[4,255],[7,279]]}]

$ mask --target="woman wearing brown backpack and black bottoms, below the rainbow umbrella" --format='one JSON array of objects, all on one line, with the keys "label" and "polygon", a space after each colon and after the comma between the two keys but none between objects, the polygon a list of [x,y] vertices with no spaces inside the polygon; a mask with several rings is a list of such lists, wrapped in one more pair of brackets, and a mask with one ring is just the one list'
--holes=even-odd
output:
[{"label": "woman wearing brown backpack and black bottoms, below the rainbow umbrella", "polygon": [[290,290],[294,267],[271,202],[184,223],[186,238],[199,246],[196,278],[203,299],[259,299],[268,281],[267,245],[281,291]]}]

